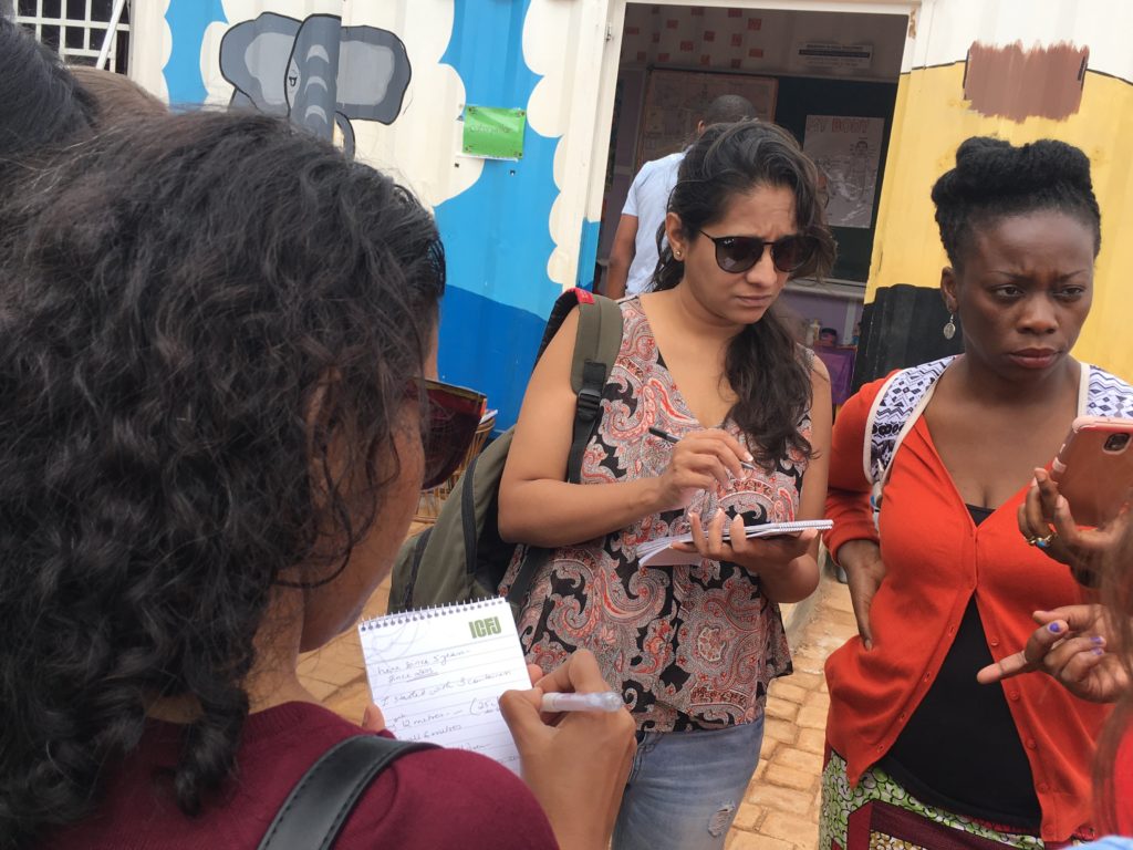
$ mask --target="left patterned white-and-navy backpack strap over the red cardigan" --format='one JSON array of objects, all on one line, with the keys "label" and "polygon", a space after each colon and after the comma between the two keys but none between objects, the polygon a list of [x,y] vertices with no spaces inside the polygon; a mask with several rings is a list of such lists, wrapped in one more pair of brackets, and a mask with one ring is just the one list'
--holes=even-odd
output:
[{"label": "left patterned white-and-navy backpack strap over the red cardigan", "polygon": [[866,481],[872,483],[869,501],[874,508],[875,527],[881,510],[881,492],[893,469],[893,458],[925,413],[936,382],[953,359],[945,357],[894,372],[874,398],[866,417],[862,468]]}]

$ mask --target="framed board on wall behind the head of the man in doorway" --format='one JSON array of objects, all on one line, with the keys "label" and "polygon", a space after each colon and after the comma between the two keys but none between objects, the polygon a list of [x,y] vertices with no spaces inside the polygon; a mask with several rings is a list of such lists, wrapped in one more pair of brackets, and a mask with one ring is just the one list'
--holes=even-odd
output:
[{"label": "framed board on wall behind the head of the man in doorway", "polygon": [[778,80],[747,74],[705,74],[653,70],[641,114],[641,139],[634,171],[642,163],[667,156],[692,142],[708,104],[722,94],[739,94],[756,108],[755,118],[775,114]]}]

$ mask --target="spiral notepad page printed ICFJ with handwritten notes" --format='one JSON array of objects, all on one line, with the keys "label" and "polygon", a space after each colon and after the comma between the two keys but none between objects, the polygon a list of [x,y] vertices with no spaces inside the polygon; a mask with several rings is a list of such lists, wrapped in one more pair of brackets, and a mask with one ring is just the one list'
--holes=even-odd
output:
[{"label": "spiral notepad page printed ICFJ with handwritten notes", "polygon": [[499,700],[531,680],[506,600],[377,617],[358,634],[370,695],[394,736],[469,749],[519,773]]}]

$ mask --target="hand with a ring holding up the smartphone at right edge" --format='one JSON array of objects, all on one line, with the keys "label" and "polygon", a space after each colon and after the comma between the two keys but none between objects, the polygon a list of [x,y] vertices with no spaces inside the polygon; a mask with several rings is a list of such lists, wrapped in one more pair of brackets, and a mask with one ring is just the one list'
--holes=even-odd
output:
[{"label": "hand with a ring holding up the smartphone at right edge", "polygon": [[1099,560],[1113,552],[1128,525],[1128,511],[1099,528],[1079,528],[1066,498],[1046,469],[1034,470],[1034,484],[1019,505],[1019,530],[1028,543],[1067,564],[1079,580],[1089,578]]}]

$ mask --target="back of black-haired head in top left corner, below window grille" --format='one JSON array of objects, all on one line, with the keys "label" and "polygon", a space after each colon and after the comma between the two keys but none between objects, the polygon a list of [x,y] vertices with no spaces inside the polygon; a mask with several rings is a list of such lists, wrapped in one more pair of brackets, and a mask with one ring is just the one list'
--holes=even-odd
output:
[{"label": "back of black-haired head in top left corner, below window grille", "polygon": [[0,169],[90,128],[91,99],[59,58],[0,14]]}]

